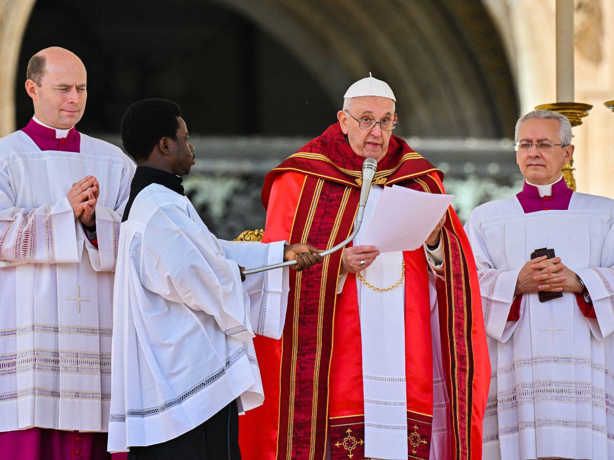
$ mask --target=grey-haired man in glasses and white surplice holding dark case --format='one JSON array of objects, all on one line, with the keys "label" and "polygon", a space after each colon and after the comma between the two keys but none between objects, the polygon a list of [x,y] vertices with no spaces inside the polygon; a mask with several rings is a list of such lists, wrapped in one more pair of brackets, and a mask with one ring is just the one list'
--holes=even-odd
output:
[{"label": "grey-haired man in glasses and white surplice holding dark case", "polygon": [[484,459],[614,459],[614,201],[567,188],[571,141],[558,113],[520,118],[523,190],[465,225],[493,370]]}]

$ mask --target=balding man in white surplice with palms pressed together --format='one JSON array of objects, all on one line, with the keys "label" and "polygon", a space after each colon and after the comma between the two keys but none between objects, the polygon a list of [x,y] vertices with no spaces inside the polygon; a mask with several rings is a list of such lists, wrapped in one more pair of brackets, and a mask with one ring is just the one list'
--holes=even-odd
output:
[{"label": "balding man in white surplice with palms pressed together", "polygon": [[0,445],[23,460],[105,458],[112,272],[134,164],[77,131],[76,55],[42,50],[27,77],[34,117],[0,139]]}]

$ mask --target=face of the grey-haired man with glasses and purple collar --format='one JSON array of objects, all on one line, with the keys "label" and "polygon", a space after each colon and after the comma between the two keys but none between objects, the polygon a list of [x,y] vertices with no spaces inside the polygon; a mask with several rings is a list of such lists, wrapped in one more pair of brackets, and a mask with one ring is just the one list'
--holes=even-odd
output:
[{"label": "face of the grey-haired man with glasses and purple collar", "polygon": [[[562,147],[554,145],[538,148],[535,144],[561,144],[558,120],[532,118],[523,121],[518,129],[520,147],[516,151],[516,163],[527,182],[535,185],[553,183],[561,177],[561,168],[569,163],[573,155],[573,145]],[[533,144],[529,151],[522,144]]]}]

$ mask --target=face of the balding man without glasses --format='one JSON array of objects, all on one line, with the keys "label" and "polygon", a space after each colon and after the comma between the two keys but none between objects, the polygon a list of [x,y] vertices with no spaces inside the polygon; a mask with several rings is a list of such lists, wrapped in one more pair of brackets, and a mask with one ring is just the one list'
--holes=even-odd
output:
[{"label": "face of the balding man without glasses", "polygon": [[26,90],[34,102],[34,115],[45,125],[68,129],[76,125],[87,100],[85,66],[74,55],[46,56],[41,86],[32,80]]}]

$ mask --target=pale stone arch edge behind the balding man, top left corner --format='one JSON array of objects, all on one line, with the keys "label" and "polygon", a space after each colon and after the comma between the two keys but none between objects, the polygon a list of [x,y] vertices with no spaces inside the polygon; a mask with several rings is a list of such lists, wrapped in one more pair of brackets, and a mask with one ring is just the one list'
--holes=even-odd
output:
[{"label": "pale stone arch edge behind the balding man, top left corner", "polygon": [[21,40],[36,0],[0,0],[0,136],[15,131],[15,76]]}]

